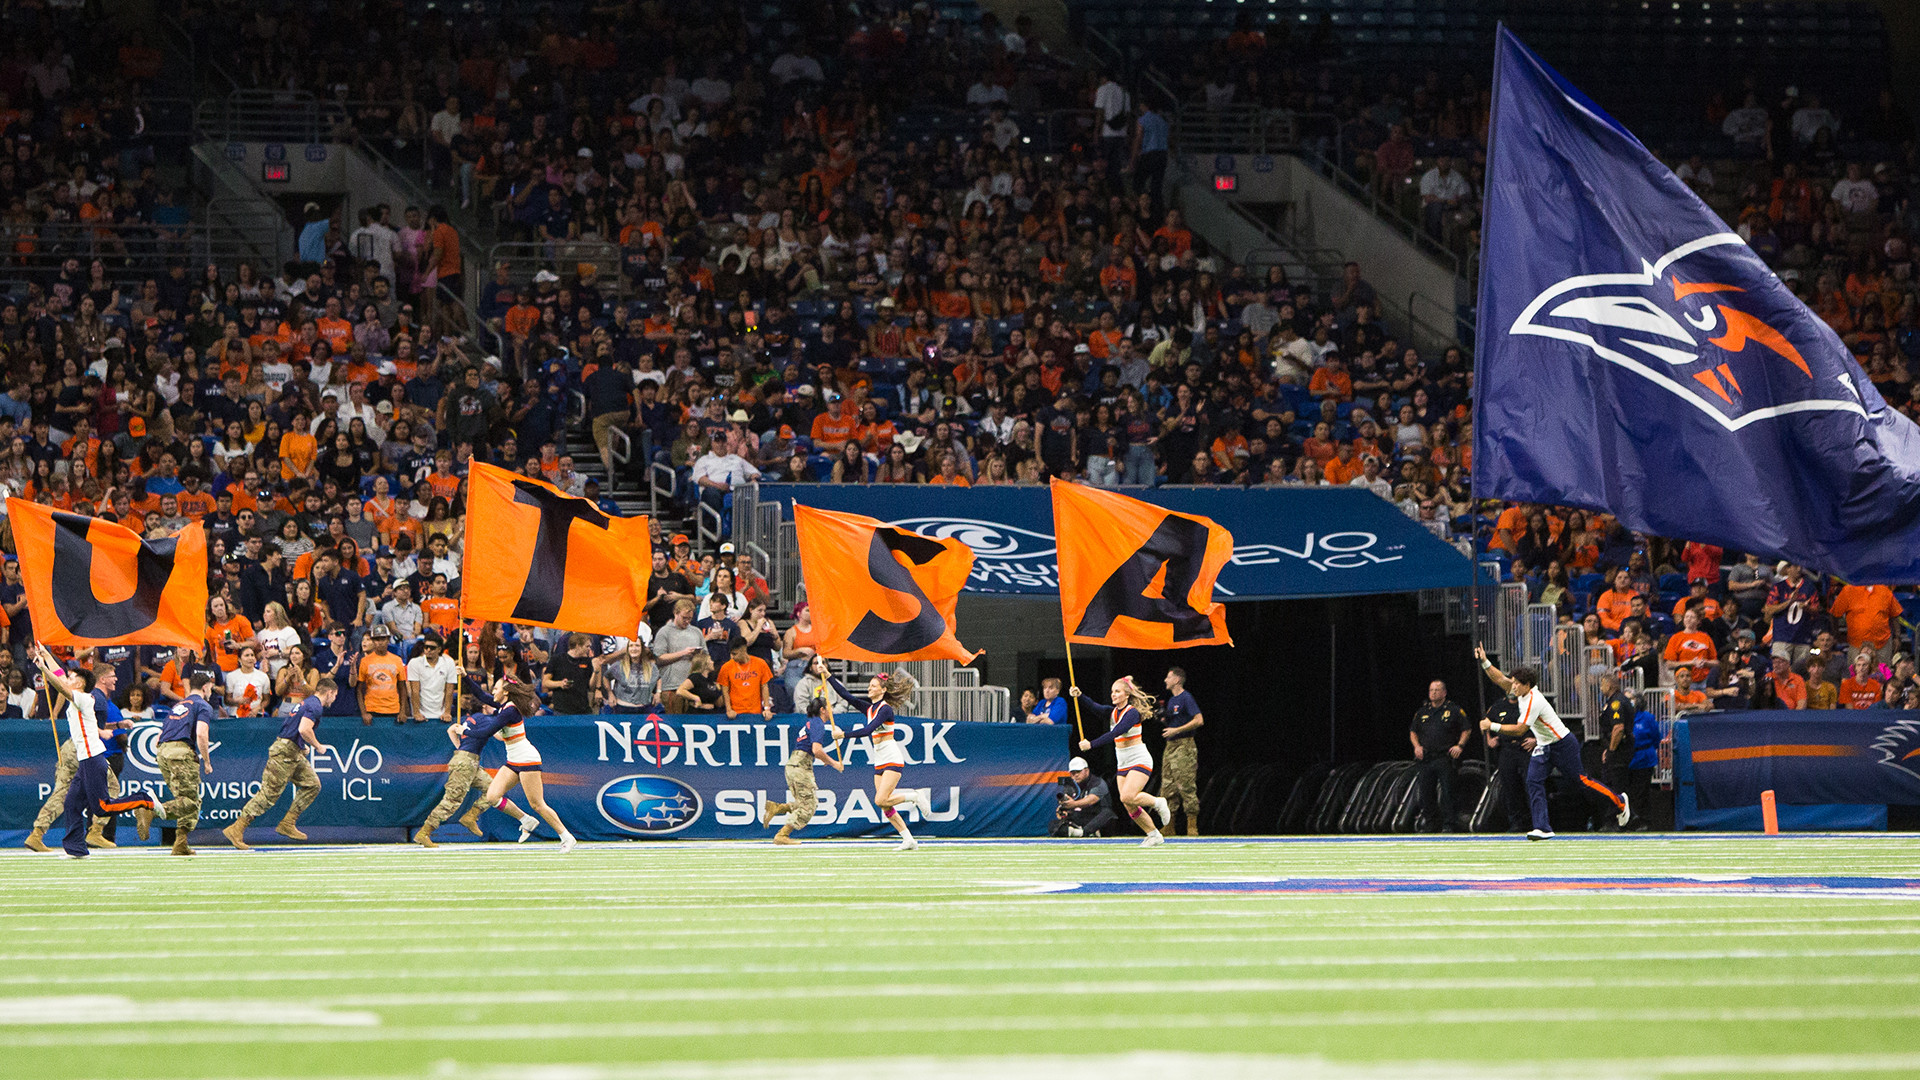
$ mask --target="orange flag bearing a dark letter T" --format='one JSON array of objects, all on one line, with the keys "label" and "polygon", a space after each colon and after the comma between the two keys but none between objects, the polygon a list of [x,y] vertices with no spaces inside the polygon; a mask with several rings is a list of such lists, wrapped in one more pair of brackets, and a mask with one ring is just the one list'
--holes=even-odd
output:
[{"label": "orange flag bearing a dark letter T", "polygon": [[645,517],[611,515],[545,480],[470,465],[465,617],[632,638],[651,571]]}]

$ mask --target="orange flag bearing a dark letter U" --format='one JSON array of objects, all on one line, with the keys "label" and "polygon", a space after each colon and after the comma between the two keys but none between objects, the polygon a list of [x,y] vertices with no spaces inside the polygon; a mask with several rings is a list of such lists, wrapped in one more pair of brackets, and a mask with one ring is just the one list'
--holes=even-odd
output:
[{"label": "orange flag bearing a dark letter U", "polygon": [[148,544],[125,525],[6,500],[33,632],[48,646],[200,646],[207,534]]}]

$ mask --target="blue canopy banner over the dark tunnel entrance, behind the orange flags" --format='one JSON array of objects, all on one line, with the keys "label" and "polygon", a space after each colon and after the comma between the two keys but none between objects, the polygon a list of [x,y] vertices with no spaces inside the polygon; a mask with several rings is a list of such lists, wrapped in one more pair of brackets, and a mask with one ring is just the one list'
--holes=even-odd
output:
[{"label": "blue canopy banner over the dark tunnel entrance, behind the orange flags", "polygon": [[[1473,565],[1394,503],[1361,488],[1121,488],[1233,532],[1219,600],[1359,596],[1469,584]],[[1060,592],[1046,488],[906,484],[760,484],[793,517],[793,502],[864,513],[973,548],[966,592]]]}]

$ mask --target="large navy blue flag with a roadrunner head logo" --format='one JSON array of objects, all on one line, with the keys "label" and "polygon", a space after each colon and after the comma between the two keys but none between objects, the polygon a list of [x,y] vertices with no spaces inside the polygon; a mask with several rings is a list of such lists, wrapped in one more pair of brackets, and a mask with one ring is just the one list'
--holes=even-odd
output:
[{"label": "large navy blue flag with a roadrunner head logo", "polygon": [[1920,429],[1713,209],[1505,27],[1494,79],[1480,494],[1920,582]]}]

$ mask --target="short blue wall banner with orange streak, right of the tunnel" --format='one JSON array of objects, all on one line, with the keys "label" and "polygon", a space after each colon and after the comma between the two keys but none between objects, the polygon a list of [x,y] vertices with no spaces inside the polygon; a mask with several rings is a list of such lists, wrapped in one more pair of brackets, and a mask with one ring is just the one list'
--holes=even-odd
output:
[{"label": "short blue wall banner with orange streak, right of the tunnel", "polygon": [[1699,809],[1920,805],[1920,713],[1895,709],[1692,717],[1688,761]]}]

